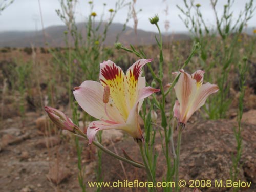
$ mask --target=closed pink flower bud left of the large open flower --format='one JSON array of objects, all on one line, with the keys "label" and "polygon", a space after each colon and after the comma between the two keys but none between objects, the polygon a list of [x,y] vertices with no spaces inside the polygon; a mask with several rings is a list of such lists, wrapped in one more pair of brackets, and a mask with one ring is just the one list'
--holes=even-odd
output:
[{"label": "closed pink flower bud left of the large open flower", "polygon": [[49,118],[57,127],[62,130],[74,131],[74,123],[63,112],[51,108],[50,106],[46,106],[45,110]]}]

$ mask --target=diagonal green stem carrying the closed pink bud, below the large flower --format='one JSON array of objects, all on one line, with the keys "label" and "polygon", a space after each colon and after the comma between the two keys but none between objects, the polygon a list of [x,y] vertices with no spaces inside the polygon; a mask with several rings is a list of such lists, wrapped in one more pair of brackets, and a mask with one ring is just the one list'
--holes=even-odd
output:
[{"label": "diagonal green stem carrying the closed pink bud, below the large flower", "polygon": [[[75,127],[74,131],[72,132],[74,134],[77,134],[79,136],[82,136],[83,138],[85,138],[86,140],[88,140],[87,135],[84,134],[79,127]],[[115,154],[114,152],[110,151],[108,148],[105,148],[103,145],[101,145],[98,141],[93,141],[92,142],[95,146],[97,146],[98,148],[100,148],[103,152],[108,153],[109,155],[115,157],[116,159],[119,159],[121,161],[124,161],[126,163],[130,163],[131,165],[138,167],[138,168],[145,168],[144,165],[140,164],[140,163],[136,163],[134,161],[131,161],[129,159],[126,159],[124,157],[121,157],[117,154]]]}]

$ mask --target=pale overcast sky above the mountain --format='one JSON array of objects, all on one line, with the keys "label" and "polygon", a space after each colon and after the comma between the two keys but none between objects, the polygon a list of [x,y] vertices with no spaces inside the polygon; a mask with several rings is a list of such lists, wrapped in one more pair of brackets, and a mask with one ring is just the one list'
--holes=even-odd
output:
[{"label": "pale overcast sky above the mountain", "polygon": [[[3,1],[3,0],[0,0]],[[128,2],[128,0],[126,0]],[[190,0],[187,0],[190,2]],[[78,0],[76,6],[76,20],[77,22],[85,21],[89,14],[88,0]],[[100,15],[103,11],[103,3],[106,3],[105,18],[108,18],[108,11],[110,8],[115,8],[116,0],[95,0],[94,11]],[[218,14],[223,12],[223,5],[226,0],[219,0],[217,4]],[[234,16],[238,16],[240,11],[244,8],[245,2],[249,0],[236,0],[233,4],[232,10]],[[57,16],[55,10],[60,9],[59,0],[40,0],[42,9],[42,18],[44,26],[49,27],[52,25],[63,25],[63,22]],[[195,3],[201,4],[201,12],[209,25],[214,25],[214,13],[211,10],[210,0],[195,0]],[[136,10],[142,9],[137,15],[138,28],[147,31],[156,31],[156,27],[148,22],[148,18],[159,15],[159,26],[162,31],[165,31],[164,23],[168,20],[170,28],[168,32],[180,32],[186,31],[184,24],[179,18],[180,10],[176,7],[184,7],[182,0],[137,0],[135,4]],[[166,15],[165,9],[168,7],[168,14]],[[114,22],[124,23],[127,18],[127,7],[120,10]],[[255,15],[255,13],[254,13]],[[95,19],[100,18],[97,16]],[[133,20],[128,23],[129,26],[133,26]],[[248,22],[248,26],[256,27],[256,16]],[[40,13],[38,0],[14,0],[14,3],[7,7],[0,15],[0,31],[10,30],[40,30]]]}]

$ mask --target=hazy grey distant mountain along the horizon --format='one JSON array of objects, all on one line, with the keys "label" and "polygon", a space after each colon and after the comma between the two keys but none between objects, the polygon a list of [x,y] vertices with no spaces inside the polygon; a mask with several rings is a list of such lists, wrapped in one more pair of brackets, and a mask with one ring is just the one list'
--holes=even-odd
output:
[{"label": "hazy grey distant mountain along the horizon", "polygon": [[[83,37],[86,37],[86,23],[78,23],[77,29],[80,31]],[[95,23],[97,26],[98,23]],[[99,28],[99,32],[102,33],[104,30],[104,24]],[[137,29],[137,34],[131,27],[126,27],[122,32],[123,25],[113,23],[109,27],[105,45],[113,45],[116,41],[117,34],[120,33],[119,42],[124,45],[151,45],[156,44],[154,32],[144,31]],[[51,26],[45,29],[46,41],[51,47],[64,47],[65,46],[65,35],[64,32],[67,30],[66,26]],[[165,42],[172,40],[185,40],[190,39],[188,34],[173,34],[166,35],[164,37]],[[35,47],[44,46],[44,35],[43,31],[7,31],[0,32],[0,47],[30,47],[33,44]]]}]

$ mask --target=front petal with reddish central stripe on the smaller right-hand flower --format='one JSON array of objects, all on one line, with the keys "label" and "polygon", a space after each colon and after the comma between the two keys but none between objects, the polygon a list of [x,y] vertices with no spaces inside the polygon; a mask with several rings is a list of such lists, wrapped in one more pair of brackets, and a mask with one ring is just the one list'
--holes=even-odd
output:
[{"label": "front petal with reddish central stripe on the smaller right-hand flower", "polygon": [[193,103],[197,92],[197,82],[184,70],[180,70],[180,72],[179,80],[174,89],[180,103],[180,122],[184,123],[189,106]]}]

